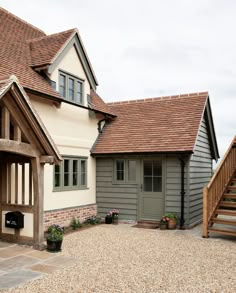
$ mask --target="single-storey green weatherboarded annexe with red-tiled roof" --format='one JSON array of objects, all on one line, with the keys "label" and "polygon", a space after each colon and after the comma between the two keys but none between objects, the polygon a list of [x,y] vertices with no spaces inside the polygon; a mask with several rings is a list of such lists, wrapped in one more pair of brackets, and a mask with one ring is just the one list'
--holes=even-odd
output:
[{"label": "single-storey green weatherboarded annexe with red-tiled roof", "polygon": [[202,189],[218,149],[207,92],[109,104],[92,155],[97,160],[97,205],[121,218],[157,221],[176,213],[181,227],[202,220]]}]

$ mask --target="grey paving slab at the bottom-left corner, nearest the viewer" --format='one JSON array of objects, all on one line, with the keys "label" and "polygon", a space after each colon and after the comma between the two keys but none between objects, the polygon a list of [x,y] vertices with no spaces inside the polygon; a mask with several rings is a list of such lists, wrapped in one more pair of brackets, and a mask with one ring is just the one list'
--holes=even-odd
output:
[{"label": "grey paving slab at the bottom-left corner, nearest the viewer", "polygon": [[41,276],[42,273],[33,272],[30,270],[12,271],[0,276],[0,289],[9,289],[12,287],[17,287],[33,279],[40,278]]}]

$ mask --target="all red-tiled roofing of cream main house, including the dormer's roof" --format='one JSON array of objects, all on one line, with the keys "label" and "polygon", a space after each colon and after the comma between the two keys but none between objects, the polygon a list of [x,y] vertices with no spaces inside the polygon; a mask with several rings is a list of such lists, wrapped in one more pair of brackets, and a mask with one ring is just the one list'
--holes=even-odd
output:
[{"label": "all red-tiled roofing of cream main house, including the dormer's roof", "polygon": [[[77,29],[71,29],[47,36],[40,29],[0,7],[0,79],[15,75],[24,89],[62,99],[32,67],[52,64],[76,33]],[[84,53],[86,55],[85,51]],[[88,64],[91,67],[89,60]],[[94,110],[96,107],[99,108],[97,110],[109,109],[100,97],[94,95],[92,100]]]}]

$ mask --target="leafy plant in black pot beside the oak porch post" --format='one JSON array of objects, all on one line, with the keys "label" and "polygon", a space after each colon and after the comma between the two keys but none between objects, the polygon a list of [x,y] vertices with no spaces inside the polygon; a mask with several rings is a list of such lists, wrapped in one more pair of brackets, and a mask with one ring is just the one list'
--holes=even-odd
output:
[{"label": "leafy plant in black pot beside the oak porch post", "polygon": [[57,252],[61,250],[64,228],[59,225],[51,225],[47,230],[47,250]]}]

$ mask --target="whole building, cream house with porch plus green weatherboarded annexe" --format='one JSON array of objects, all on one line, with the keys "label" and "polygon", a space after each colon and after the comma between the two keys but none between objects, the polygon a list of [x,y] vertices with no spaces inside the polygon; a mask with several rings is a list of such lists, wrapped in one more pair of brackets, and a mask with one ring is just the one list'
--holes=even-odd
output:
[{"label": "whole building, cream house with porch plus green weatherboarded annexe", "polygon": [[115,207],[198,223],[218,158],[208,93],[106,104],[77,29],[0,19],[0,239],[41,247],[50,224]]}]

